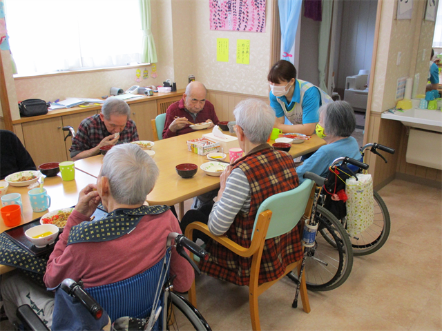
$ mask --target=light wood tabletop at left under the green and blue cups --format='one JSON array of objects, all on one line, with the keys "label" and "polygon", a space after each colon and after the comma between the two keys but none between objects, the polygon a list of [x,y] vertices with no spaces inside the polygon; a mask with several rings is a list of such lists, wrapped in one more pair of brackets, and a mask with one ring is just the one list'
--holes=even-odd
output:
[{"label": "light wood tabletop at left under the green and blue cups", "polygon": [[[44,180],[44,188],[48,191],[48,194],[51,199],[51,205],[49,210],[44,212],[33,212],[30,206],[30,201],[28,197],[29,189],[25,187],[17,188],[15,186],[9,185],[8,192],[9,193],[20,193],[21,194],[21,203],[23,204],[22,216],[21,216],[21,224],[29,223],[34,219],[38,219],[42,217],[47,212],[52,212],[52,210],[57,210],[61,208],[72,207],[77,204],[78,194],[81,189],[83,189],[89,183],[96,183],[97,179],[89,174],[86,174],[81,171],[75,171],[75,179],[73,181],[63,181],[61,179],[61,174],[58,174],[55,177],[46,177]],[[1,219],[1,215],[0,215]],[[3,219],[0,221],[0,233],[8,230]]]}]

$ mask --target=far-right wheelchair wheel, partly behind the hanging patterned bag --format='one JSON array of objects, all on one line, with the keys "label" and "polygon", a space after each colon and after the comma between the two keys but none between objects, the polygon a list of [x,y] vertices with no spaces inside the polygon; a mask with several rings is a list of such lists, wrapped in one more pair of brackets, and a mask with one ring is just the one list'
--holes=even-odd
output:
[{"label": "far-right wheelchair wheel, partly behind the hanging patterned bag", "polygon": [[390,234],[390,214],[378,192],[373,191],[374,221],[365,231],[358,233],[352,241],[354,255],[367,255],[381,248]]}]

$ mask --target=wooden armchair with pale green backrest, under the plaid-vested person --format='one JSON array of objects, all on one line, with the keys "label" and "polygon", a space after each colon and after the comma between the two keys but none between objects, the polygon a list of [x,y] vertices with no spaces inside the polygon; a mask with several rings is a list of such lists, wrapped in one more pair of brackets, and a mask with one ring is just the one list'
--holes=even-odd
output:
[{"label": "wooden armchair with pale green backrest, under the plaid-vested person", "polygon": [[[286,274],[298,267],[302,259],[287,266],[285,273],[278,279],[268,283],[258,285],[262,250],[264,248],[265,239],[278,237],[291,231],[303,216],[309,217],[311,206],[314,199],[314,182],[306,179],[301,185],[294,190],[275,194],[262,202],[258,209],[255,224],[253,225],[253,234],[251,245],[244,248],[225,236],[214,236],[209,231],[206,224],[194,222],[187,226],[186,237],[192,239],[193,230],[200,230],[207,234],[211,239],[218,241],[221,245],[229,248],[232,252],[240,255],[240,257],[252,257],[249,281],[249,305],[250,317],[253,331],[261,330],[258,311],[258,297],[260,294],[269,289],[271,285],[285,277]],[[191,254],[193,257],[193,254]],[[293,293],[295,294],[296,288]],[[302,308],[305,312],[310,312],[309,299],[307,296],[307,287],[305,285],[305,270],[302,274],[300,294],[302,300]],[[189,290],[189,301],[196,307],[196,291],[195,281]]]}]

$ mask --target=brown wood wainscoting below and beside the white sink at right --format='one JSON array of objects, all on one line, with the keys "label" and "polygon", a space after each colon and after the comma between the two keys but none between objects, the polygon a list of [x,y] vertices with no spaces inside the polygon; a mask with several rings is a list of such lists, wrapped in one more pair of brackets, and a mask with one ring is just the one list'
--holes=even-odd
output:
[{"label": "brown wood wainscoting below and beside the white sink at right", "polygon": [[[367,143],[381,143],[381,145],[394,148],[394,155],[381,152],[387,163],[368,152],[367,163],[369,164],[369,173],[373,176],[373,185],[376,190],[387,185],[395,178],[406,179],[408,181],[416,181],[420,179],[424,185],[430,184],[431,181],[442,184],[442,170],[423,167],[407,163],[405,154],[407,153],[407,128],[400,121],[392,121],[390,119],[381,119],[381,113],[370,112],[369,126],[365,132],[367,134]],[[414,177],[414,179],[413,179]],[[437,183],[436,183],[436,186]]]}]

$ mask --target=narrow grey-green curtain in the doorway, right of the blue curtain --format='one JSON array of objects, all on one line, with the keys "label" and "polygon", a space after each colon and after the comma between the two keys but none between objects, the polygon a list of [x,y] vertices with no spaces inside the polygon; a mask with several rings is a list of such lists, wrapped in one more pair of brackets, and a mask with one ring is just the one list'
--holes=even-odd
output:
[{"label": "narrow grey-green curtain in the doorway, right of the blue curtain", "polygon": [[323,20],[320,22],[319,30],[319,88],[327,93],[327,83],[325,82],[325,68],[329,58],[330,27],[332,26],[333,1],[323,1]]}]

